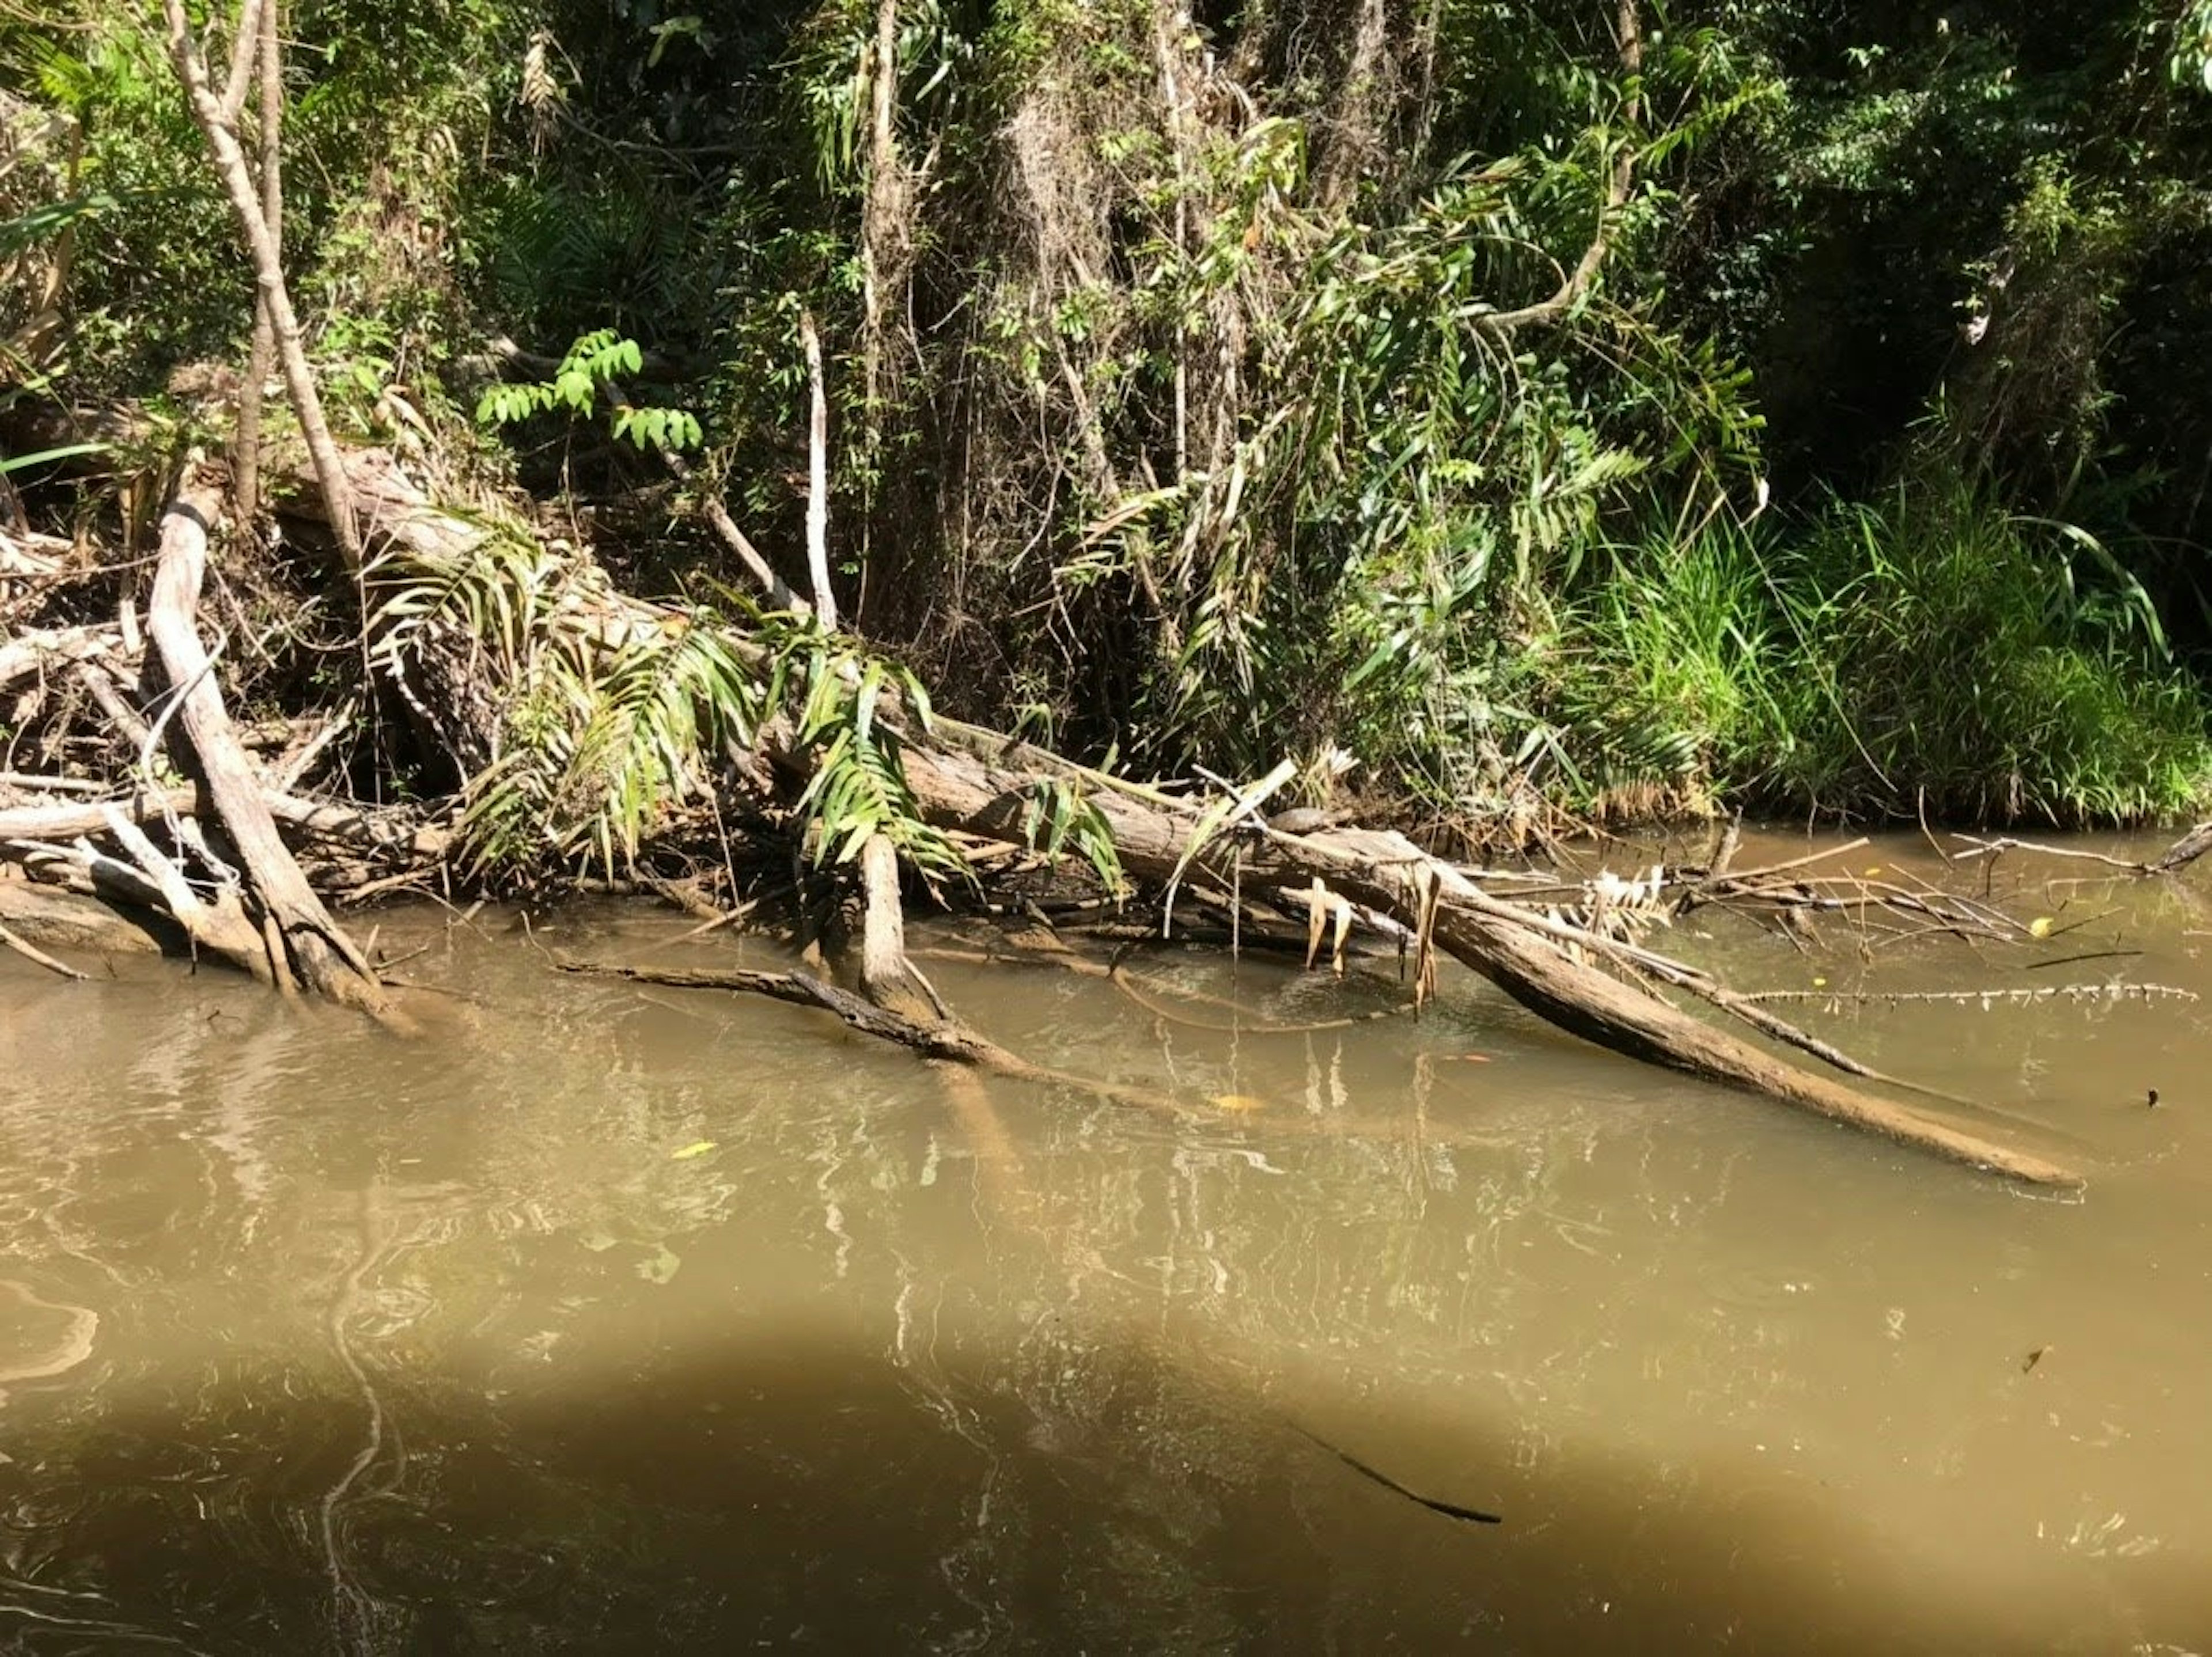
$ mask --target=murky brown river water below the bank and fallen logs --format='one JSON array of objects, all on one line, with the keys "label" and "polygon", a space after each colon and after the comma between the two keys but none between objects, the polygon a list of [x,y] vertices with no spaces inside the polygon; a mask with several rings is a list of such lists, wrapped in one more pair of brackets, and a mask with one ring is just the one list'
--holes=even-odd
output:
[{"label": "murky brown river water below the bank and fallen logs", "polygon": [[[2212,993],[2212,883],[2095,874],[1997,865],[2035,951],[1663,942]],[[380,929],[427,1040],[0,956],[0,1650],[2212,1650],[2212,1002],[1794,1009],[2088,1175],[2051,1199],[1464,973],[1312,1029],[1394,967],[925,962],[1161,1113]],[[686,929],[535,938],[779,960]]]}]

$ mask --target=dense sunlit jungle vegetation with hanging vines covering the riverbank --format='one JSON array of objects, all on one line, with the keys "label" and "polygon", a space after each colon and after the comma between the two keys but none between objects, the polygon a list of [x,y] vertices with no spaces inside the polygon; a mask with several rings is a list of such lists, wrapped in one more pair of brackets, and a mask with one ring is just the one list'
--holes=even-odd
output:
[{"label": "dense sunlit jungle vegetation with hanging vines covering the riverbank", "polygon": [[[737,533],[816,591],[812,507],[894,677],[1139,777],[1290,757],[1506,832],[2212,777],[2212,0],[279,15],[316,383],[440,498],[529,502],[491,639],[586,546],[728,611]],[[131,414],[15,440],[15,511],[133,546],[131,480],[230,440],[252,265],[159,7],[4,0],[0,86],[9,418]],[[316,562],[230,573],[248,706],[352,686]],[[442,600],[380,602],[403,648]],[[726,668],[520,675],[473,779],[372,719],[336,752],[471,783],[482,856],[604,847],[681,761],[595,770],[577,695],[650,754]]]}]

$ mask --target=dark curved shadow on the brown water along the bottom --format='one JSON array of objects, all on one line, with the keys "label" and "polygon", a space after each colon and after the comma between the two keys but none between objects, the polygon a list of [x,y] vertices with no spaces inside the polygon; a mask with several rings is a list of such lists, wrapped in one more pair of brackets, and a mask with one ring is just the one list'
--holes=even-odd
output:
[{"label": "dark curved shadow on the brown water along the bottom", "polygon": [[[1480,1425],[1363,1422],[1356,1400],[1314,1422],[1506,1515],[1458,1524],[1252,1385],[1051,1323],[927,1374],[805,1330],[591,1374],[380,1383],[383,1447],[352,1482],[356,1398],[281,1372],[91,1389],[9,1438],[0,1648],[2112,1648],[1739,1469],[1546,1453],[1515,1473]],[[2143,1602],[2170,1608],[2146,1637],[2201,1639],[2194,1573],[2143,1564]]]}]

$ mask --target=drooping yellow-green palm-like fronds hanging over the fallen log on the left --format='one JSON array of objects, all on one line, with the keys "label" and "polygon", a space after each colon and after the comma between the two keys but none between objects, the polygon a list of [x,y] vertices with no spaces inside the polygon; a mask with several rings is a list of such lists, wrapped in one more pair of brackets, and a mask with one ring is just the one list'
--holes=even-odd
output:
[{"label": "drooping yellow-green palm-like fronds hanging over the fallen log on the left", "polygon": [[[920,821],[900,768],[898,701],[925,728],[929,697],[902,668],[810,624],[752,615],[752,642],[708,608],[644,619],[597,566],[498,520],[465,555],[385,553],[372,569],[376,664],[396,684],[465,661],[500,686],[493,752],[460,819],[473,874],[520,880],[593,861],[628,872],[644,841],[701,796],[728,743],[787,715],[812,781],[799,801],[818,865],[885,834],[929,876],[967,861]],[[741,604],[741,613],[750,613]],[[431,670],[429,675],[425,670]]]}]

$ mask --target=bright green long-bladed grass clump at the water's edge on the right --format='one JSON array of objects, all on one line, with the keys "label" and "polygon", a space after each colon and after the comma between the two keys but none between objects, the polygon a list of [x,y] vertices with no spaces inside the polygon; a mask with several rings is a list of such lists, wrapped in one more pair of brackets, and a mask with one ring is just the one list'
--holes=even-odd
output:
[{"label": "bright green long-bladed grass clump at the water's edge on the right", "polygon": [[1590,803],[2051,825],[2188,810],[2199,688],[2088,535],[1964,487],[1615,549],[1557,708]]}]

